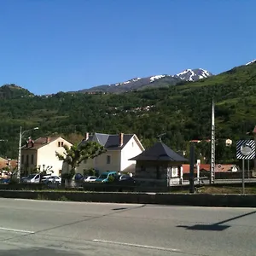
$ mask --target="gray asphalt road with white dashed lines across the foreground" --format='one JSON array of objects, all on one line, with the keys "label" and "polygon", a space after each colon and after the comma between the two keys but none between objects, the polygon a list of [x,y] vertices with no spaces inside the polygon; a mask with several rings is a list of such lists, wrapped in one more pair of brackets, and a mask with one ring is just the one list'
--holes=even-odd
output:
[{"label": "gray asphalt road with white dashed lines across the foreground", "polygon": [[0,199],[0,255],[247,256],[256,208]]}]

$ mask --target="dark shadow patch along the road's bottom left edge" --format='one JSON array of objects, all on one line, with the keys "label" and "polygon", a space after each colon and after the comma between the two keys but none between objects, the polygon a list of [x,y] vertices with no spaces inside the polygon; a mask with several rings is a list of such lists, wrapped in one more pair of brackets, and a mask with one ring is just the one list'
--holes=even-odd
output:
[{"label": "dark shadow patch along the road's bottom left edge", "polygon": [[84,254],[78,252],[68,252],[64,250],[55,250],[51,248],[40,248],[40,247],[33,247],[33,248],[17,248],[17,249],[0,249],[0,255],[4,256],[82,256]]}]

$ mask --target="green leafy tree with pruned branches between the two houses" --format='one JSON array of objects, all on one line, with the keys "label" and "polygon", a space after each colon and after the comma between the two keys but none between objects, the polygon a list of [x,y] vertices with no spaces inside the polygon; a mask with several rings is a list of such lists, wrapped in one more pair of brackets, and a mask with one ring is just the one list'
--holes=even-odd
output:
[{"label": "green leafy tree with pruned branches between the two houses", "polygon": [[86,162],[88,159],[93,159],[106,151],[102,145],[96,142],[74,144],[70,148],[64,145],[63,148],[65,148],[64,154],[55,152],[55,155],[59,160],[63,160],[71,167],[70,170],[62,176],[69,181],[75,175],[76,167],[78,167],[82,161]]}]

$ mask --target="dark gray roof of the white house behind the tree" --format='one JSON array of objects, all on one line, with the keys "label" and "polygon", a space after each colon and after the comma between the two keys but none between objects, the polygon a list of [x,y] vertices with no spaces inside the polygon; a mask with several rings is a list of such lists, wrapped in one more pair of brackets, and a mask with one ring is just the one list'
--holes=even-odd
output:
[{"label": "dark gray roof of the white house behind the tree", "polygon": [[124,141],[121,147],[119,146],[119,134],[110,135],[104,133],[95,133],[94,135],[90,135],[87,141],[82,141],[81,143],[97,142],[108,150],[118,150],[124,148],[133,136],[134,134],[124,134]]}]

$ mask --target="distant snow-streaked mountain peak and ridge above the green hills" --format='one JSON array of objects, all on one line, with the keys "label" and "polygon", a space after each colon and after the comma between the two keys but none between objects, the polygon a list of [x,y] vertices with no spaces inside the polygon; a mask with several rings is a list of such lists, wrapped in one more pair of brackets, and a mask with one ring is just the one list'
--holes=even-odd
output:
[{"label": "distant snow-streaked mountain peak and ridge above the green hills", "polygon": [[[79,90],[79,92],[119,93],[129,90],[142,90],[143,88],[148,87],[160,87],[161,84],[175,85],[184,81],[194,82],[199,79],[207,79],[210,76],[212,76],[212,73],[202,68],[186,69],[182,73],[177,73],[175,75],[160,74],[147,78],[135,78],[117,84],[95,86],[90,89]],[[156,83],[157,81],[160,81],[161,84]]]}]

